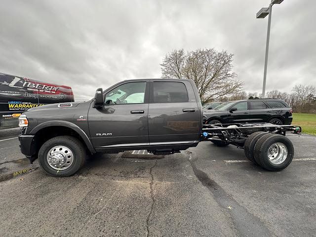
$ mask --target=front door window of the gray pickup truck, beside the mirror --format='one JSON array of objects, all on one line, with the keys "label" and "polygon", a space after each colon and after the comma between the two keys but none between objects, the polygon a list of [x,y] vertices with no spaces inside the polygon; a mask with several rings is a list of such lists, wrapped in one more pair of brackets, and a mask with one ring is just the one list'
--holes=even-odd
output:
[{"label": "front door window of the gray pickup truck, beside the mirror", "polygon": [[144,103],[146,82],[129,82],[122,84],[105,95],[105,102],[112,100],[113,104]]}]

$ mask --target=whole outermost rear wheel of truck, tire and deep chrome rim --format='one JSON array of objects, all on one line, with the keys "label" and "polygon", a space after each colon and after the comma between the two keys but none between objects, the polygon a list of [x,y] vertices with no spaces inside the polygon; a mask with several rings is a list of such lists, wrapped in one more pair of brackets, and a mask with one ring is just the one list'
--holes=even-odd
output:
[{"label": "whole outermost rear wheel of truck, tire and deep chrome rim", "polygon": [[254,158],[271,171],[286,168],[294,156],[292,142],[282,135],[262,136],[255,145]]}]

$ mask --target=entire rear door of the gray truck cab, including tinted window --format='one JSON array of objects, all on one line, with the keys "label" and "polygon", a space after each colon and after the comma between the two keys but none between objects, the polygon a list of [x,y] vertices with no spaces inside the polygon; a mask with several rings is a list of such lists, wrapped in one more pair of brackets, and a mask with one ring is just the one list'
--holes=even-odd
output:
[{"label": "entire rear door of the gray truck cab, including tinted window", "polygon": [[194,143],[198,140],[200,115],[192,85],[189,81],[163,81],[163,84],[157,82],[159,81],[151,82],[150,90],[150,145]]}]

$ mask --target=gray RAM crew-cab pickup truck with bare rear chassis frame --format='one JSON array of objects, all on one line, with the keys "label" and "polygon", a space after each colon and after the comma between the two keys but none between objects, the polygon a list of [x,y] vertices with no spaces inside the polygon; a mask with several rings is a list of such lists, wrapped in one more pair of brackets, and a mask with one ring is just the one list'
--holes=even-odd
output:
[{"label": "gray RAM crew-cab pickup truck with bare rear chassis frame", "polygon": [[[268,170],[281,170],[294,149],[285,131],[290,125],[202,124],[197,87],[187,79],[134,79],[86,102],[45,105],[19,117],[21,152],[53,176],[70,176],[87,154],[148,150],[170,155],[208,140],[217,146],[244,148],[245,155]],[[259,144],[259,145],[258,145]],[[262,155],[263,154],[263,155]]]}]

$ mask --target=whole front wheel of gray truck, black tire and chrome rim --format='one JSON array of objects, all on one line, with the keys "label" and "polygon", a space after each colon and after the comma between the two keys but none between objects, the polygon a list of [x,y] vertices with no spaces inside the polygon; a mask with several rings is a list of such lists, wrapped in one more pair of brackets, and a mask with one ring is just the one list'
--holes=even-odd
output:
[{"label": "whole front wheel of gray truck, black tire and chrome rim", "polygon": [[77,138],[58,136],[47,140],[41,146],[39,162],[45,173],[65,177],[80,169],[85,155],[85,150]]}]

